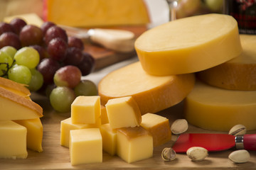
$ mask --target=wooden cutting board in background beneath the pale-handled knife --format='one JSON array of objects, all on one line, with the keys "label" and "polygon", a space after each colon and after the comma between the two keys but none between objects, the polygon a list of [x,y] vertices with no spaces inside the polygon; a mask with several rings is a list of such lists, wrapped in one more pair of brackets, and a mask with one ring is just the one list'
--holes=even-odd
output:
[{"label": "wooden cutting board in background beneath the pale-handled knife", "polygon": [[[134,33],[136,38],[138,38],[139,35],[144,33],[144,31],[146,31],[147,28],[146,26],[119,26],[111,27],[111,29],[129,30]],[[89,52],[92,55],[92,57],[95,58],[96,70],[137,56],[135,50],[133,52],[115,52],[113,50],[108,50],[105,47],[92,44],[89,42],[85,42],[85,52]]]}]

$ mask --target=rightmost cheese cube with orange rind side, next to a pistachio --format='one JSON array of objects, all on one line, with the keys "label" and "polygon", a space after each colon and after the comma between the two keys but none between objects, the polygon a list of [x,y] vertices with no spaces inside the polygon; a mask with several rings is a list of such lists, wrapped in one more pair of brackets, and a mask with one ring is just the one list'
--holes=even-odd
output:
[{"label": "rightmost cheese cube with orange rind side, next to a pistachio", "polygon": [[142,115],[141,126],[153,136],[154,147],[171,140],[171,128],[169,120],[161,115],[146,113]]}]

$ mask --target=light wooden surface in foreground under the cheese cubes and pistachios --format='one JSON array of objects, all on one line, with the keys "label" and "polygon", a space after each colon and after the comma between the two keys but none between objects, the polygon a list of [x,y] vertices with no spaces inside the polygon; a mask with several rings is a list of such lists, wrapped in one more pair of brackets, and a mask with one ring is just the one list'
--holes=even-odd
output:
[{"label": "light wooden surface in foreground under the cheese cubes and pistachios", "polygon": [[[170,141],[164,145],[154,148],[154,155],[149,159],[128,164],[117,156],[110,156],[103,152],[103,162],[100,164],[82,164],[71,166],[69,149],[60,146],[60,120],[68,118],[70,113],[56,113],[50,107],[46,97],[33,96],[33,101],[43,107],[43,152],[28,150],[27,159],[0,159],[0,169],[256,169],[256,152],[250,151],[250,162],[245,164],[234,164],[228,159],[228,149],[222,152],[210,152],[209,156],[202,162],[192,162],[186,154],[177,154],[177,159],[172,162],[164,162],[161,159],[161,151],[164,147],[171,147],[174,142]],[[166,116],[172,123],[177,118],[183,118],[183,103],[168,108],[158,113]],[[202,130],[189,125],[187,132],[212,132]],[[225,132],[223,132],[225,133]],[[248,133],[256,133],[249,131]]]}]

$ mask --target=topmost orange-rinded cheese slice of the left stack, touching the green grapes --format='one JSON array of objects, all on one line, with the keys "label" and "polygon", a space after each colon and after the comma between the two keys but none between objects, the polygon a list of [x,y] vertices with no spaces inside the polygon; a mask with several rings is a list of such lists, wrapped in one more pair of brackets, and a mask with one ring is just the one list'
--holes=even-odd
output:
[{"label": "topmost orange-rinded cheese slice of the left stack, touching the green grapes", "polygon": [[11,81],[9,79],[5,79],[3,77],[0,77],[0,87],[14,92],[14,94],[18,94],[19,96],[23,96],[26,98],[29,98],[31,96],[31,92],[26,88],[25,84],[19,84],[15,81]]}]

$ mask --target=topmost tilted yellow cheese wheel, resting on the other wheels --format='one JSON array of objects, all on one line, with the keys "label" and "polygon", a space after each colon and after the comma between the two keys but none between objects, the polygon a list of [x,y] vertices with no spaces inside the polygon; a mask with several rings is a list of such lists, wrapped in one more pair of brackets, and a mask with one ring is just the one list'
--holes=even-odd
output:
[{"label": "topmost tilted yellow cheese wheel, resting on the other wheels", "polygon": [[198,72],[242,52],[238,23],[223,14],[181,18],[151,28],[137,38],[135,49],[143,69],[159,76]]}]

